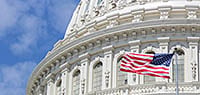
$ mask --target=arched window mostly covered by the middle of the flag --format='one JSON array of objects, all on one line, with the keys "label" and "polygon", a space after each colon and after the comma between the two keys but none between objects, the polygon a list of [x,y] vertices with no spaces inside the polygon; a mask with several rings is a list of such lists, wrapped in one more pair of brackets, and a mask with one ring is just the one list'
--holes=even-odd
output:
[{"label": "arched window mostly covered by the middle of the flag", "polygon": [[[149,50],[147,52],[145,52],[146,54],[155,54],[154,51]],[[156,78],[153,76],[148,76],[148,75],[144,75],[144,83],[145,84],[151,84],[154,83],[156,81]]]}]

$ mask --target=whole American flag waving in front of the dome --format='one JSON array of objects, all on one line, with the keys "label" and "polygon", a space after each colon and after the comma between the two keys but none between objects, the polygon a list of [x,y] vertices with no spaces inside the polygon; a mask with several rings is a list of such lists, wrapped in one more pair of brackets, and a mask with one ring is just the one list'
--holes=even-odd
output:
[{"label": "whole American flag waving in front of the dome", "polygon": [[120,71],[170,78],[169,66],[173,54],[126,53],[120,64]]}]

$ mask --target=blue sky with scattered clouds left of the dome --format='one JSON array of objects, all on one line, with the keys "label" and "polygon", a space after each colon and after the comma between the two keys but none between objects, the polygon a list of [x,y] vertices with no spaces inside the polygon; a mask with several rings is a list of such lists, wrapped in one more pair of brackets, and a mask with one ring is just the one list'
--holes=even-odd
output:
[{"label": "blue sky with scattered clouds left of the dome", "polygon": [[0,0],[0,95],[25,95],[35,66],[63,39],[79,0]]}]

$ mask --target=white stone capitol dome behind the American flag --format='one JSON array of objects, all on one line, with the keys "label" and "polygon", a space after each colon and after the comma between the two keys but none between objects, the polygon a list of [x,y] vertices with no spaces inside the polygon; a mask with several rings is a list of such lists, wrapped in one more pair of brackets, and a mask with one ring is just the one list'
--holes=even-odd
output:
[{"label": "white stone capitol dome behind the American flag", "polygon": [[64,39],[38,64],[27,95],[175,95],[170,79],[124,73],[122,55],[177,48],[180,95],[200,95],[200,0],[81,0]]}]

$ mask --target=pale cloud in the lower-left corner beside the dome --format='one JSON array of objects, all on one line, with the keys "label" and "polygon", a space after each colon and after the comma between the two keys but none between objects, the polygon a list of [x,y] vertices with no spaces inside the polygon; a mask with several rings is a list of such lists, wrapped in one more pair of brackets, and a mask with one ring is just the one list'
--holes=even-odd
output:
[{"label": "pale cloud in the lower-left corner beside the dome", "polygon": [[0,95],[25,95],[27,80],[35,66],[34,62],[1,66]]}]

